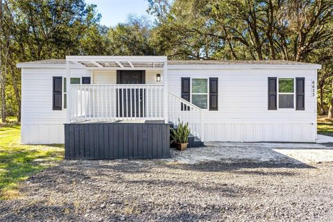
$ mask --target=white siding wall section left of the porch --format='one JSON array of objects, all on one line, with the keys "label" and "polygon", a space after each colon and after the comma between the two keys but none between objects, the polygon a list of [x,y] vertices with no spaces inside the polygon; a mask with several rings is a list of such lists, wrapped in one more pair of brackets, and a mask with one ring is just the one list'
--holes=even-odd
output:
[{"label": "white siding wall section left of the porch", "polygon": [[[53,76],[66,77],[65,67],[22,68],[22,144],[64,143],[67,113],[52,110]],[[89,70],[71,70],[71,77],[82,76],[90,76]]]}]

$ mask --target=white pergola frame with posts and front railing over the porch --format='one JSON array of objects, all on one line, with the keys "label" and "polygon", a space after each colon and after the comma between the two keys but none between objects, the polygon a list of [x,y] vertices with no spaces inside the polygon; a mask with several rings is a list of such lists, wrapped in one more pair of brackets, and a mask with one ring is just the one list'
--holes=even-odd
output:
[{"label": "white pergola frame with posts and front railing over the porch", "polygon": [[[117,117],[121,117],[121,119],[144,119],[144,120],[163,120],[164,123],[168,123],[168,87],[167,87],[167,56],[67,56],[66,57],[66,77],[67,79],[71,78],[71,66],[75,65],[76,67],[82,67],[84,69],[89,69],[90,71],[94,70],[160,70],[162,73],[162,84],[159,85],[151,85],[151,84],[139,84],[139,85],[71,85],[70,81],[67,81],[67,123],[71,123],[77,120],[93,120],[96,119],[95,115],[92,117],[91,108],[94,108],[94,104],[96,101],[95,93],[98,96],[102,97],[106,104],[108,104],[107,110],[103,114],[102,120],[105,121],[114,121]],[[150,102],[149,108],[144,110],[141,114],[134,114],[133,111],[130,110],[130,114],[128,114],[127,109],[138,109],[140,111],[146,109],[142,106],[144,105],[140,102],[137,104],[138,95],[146,97],[147,101]],[[71,95],[73,94],[73,95]],[[94,94],[94,95],[93,95]],[[119,98],[120,96],[126,96],[126,98]],[[147,97],[147,95],[149,95]],[[113,101],[109,101],[108,96],[111,96]],[[130,96],[129,103],[126,104],[125,107],[119,109],[119,105],[123,105],[124,101],[128,101],[127,96]],[[133,100],[132,100],[133,99]],[[148,99],[153,99],[154,102],[148,101]],[[158,99],[158,101],[157,101]],[[101,103],[101,101],[99,101]],[[134,104],[132,104],[132,102]],[[112,104],[111,104],[112,103]],[[156,108],[158,105],[158,110]],[[162,103],[162,104],[161,104]],[[73,105],[74,104],[74,105]],[[102,102],[102,105],[103,102]],[[106,107],[107,105],[105,105]],[[111,106],[113,108],[111,108]],[[117,106],[117,108],[116,108]],[[125,114],[123,113],[123,109],[126,109]],[[153,110],[155,108],[155,110]],[[150,110],[151,109],[151,110]],[[73,114],[73,112],[76,114]],[[89,111],[89,112],[88,112]],[[122,114],[121,114],[122,112]],[[154,114],[155,113],[155,114]],[[95,112],[94,112],[95,114]],[[147,115],[148,114],[148,115]],[[150,115],[149,115],[150,114]],[[73,118],[75,116],[75,118]],[[126,117],[126,118],[125,118]],[[101,120],[100,117],[97,117],[97,120]]]}]

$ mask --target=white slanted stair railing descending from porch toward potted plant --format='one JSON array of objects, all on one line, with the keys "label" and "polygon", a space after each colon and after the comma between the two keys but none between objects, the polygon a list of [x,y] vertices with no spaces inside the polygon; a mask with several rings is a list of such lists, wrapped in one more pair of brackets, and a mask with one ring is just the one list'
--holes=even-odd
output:
[{"label": "white slanted stair railing descending from porch toward potted plant", "polygon": [[[179,120],[189,123],[191,134],[203,141],[203,112],[196,105],[189,103],[185,99],[168,93],[168,116],[169,122],[178,125]],[[179,119],[179,120],[178,120]]]}]

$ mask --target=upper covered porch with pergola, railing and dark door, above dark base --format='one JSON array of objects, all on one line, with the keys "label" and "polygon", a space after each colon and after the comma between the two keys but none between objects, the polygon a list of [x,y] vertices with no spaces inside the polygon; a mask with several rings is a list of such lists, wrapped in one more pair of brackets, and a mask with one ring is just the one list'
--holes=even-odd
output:
[{"label": "upper covered porch with pergola, railing and dark door, above dark base", "polygon": [[67,56],[71,67],[89,69],[83,84],[67,81],[67,123],[164,121],[168,123],[167,57]]}]

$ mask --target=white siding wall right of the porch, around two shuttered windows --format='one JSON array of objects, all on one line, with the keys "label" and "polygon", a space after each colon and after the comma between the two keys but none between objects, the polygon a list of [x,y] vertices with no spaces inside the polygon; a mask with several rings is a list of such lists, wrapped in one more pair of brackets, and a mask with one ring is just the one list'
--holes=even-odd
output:
[{"label": "white siding wall right of the porch, around two shuttered windows", "polygon": [[[219,78],[219,110],[204,111],[206,142],[314,142],[316,69],[182,69],[168,71],[169,91],[181,96],[181,78]],[[305,110],[268,110],[268,77],[305,77]]]}]

